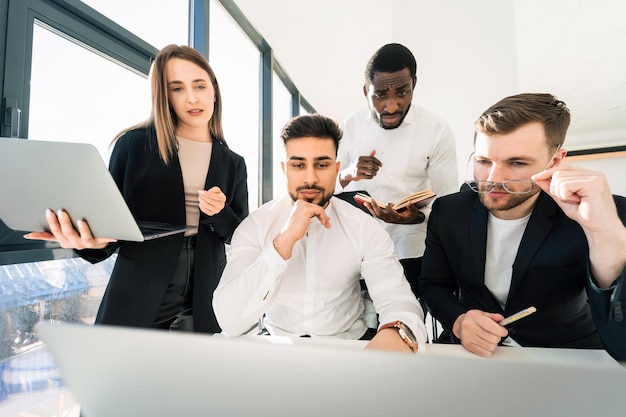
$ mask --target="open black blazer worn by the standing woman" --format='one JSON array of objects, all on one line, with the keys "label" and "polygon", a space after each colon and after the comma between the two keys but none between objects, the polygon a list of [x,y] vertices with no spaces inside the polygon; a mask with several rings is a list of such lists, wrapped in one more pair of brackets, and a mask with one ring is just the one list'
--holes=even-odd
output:
[{"label": "open black blazer worn by the standing woman", "polygon": [[[122,136],[111,154],[109,170],[138,221],[185,223],[183,177],[178,158],[169,165],[160,159],[156,136],[145,129]],[[205,189],[218,186],[226,195],[224,209],[200,213],[194,278],[194,331],[221,329],[212,307],[213,291],[226,265],[224,244],[248,215],[246,165],[243,158],[219,141],[213,151]],[[178,261],[183,234],[142,243],[116,242],[103,250],[77,253],[99,262],[119,249],[96,323],[151,327]]]}]

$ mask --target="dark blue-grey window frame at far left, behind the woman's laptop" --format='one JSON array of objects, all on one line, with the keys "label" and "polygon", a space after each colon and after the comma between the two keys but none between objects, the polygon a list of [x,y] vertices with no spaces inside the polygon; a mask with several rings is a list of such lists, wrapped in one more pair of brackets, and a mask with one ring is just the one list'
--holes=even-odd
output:
[{"label": "dark blue-grey window frame at far left, behind the woman's laptop", "polygon": [[[136,73],[147,76],[157,49],[78,0],[0,0],[2,137],[28,138],[35,21]],[[19,115],[19,116],[16,116]],[[2,140],[2,139],[0,139]],[[3,174],[0,174],[3,175]],[[10,174],[9,174],[10,175]],[[0,221],[0,265],[76,256],[50,242],[28,241]]]}]

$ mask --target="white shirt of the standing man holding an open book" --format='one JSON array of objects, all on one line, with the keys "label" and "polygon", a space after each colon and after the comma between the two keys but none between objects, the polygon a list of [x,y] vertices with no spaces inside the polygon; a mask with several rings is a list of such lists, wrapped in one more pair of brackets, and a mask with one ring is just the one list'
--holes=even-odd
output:
[{"label": "white shirt of the standing man holding an open book", "polygon": [[[337,160],[341,170],[359,156],[376,150],[383,166],[371,180],[352,181],[335,193],[365,190],[384,203],[395,203],[407,195],[430,188],[437,196],[459,190],[456,142],[452,129],[434,114],[411,104],[402,124],[383,129],[372,119],[369,108],[348,117],[342,124]],[[422,209],[426,219],[420,224],[392,224],[380,221],[393,240],[400,259],[424,254],[426,223],[430,208]]]}]

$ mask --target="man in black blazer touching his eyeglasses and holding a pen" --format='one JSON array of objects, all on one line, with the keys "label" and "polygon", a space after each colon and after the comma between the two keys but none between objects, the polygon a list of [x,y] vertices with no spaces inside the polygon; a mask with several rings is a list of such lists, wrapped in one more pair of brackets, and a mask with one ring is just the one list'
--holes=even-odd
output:
[{"label": "man in black blazer touching his eyeglasses and holding a pen", "polygon": [[504,98],[475,122],[470,190],[437,199],[428,222],[419,290],[444,327],[439,341],[481,356],[501,343],[604,342],[626,359],[626,199],[602,174],[562,165],[569,123],[550,94]]}]

